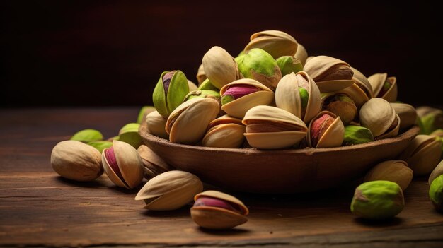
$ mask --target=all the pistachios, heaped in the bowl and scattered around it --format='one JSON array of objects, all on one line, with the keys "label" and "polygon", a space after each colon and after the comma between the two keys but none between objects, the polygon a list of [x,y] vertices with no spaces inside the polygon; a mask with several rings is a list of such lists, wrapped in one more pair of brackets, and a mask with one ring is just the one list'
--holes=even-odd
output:
[{"label": "all the pistachios, heaped in the bowl and scattered around it", "polygon": [[265,150],[351,146],[419,125],[422,134],[398,160],[367,172],[351,211],[363,218],[392,218],[403,209],[403,191],[413,175],[429,174],[430,199],[443,208],[443,112],[397,102],[395,76],[367,78],[340,59],[308,57],[291,35],[267,30],[253,34],[237,57],[222,47],[209,49],[197,81],[198,86],[180,70],[164,71],[152,95],[154,107],[142,108],[137,123],[108,141],[99,131],[80,131],[54,147],[52,167],[79,181],[104,171],[127,189],[145,177],[148,182],[135,197],[144,208],[166,211],[195,201],[190,213],[197,225],[233,228],[246,223],[248,208],[234,196],[203,191],[195,175],[173,170],[142,145],[140,123],[145,120],[151,134],[173,143]]}]

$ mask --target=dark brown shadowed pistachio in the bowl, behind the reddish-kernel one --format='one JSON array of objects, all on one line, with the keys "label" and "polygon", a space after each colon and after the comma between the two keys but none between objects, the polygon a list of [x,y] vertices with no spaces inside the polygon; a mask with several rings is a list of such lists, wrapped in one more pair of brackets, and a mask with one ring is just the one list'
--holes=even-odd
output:
[{"label": "dark brown shadowed pistachio in the bowl, behind the reddish-kernel one", "polygon": [[327,110],[338,115],[343,124],[350,124],[357,117],[357,106],[346,94],[338,93],[326,95],[323,100],[322,110]]}]

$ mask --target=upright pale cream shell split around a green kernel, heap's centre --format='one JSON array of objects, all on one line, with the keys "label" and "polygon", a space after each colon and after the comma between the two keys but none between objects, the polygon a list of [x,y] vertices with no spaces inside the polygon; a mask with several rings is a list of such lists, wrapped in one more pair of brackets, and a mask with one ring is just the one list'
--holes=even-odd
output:
[{"label": "upright pale cream shell split around a green kernel, heap's centre", "polygon": [[[300,88],[308,92],[305,107],[302,105]],[[305,71],[290,73],[280,80],[275,89],[275,105],[309,123],[321,110],[320,90]]]}]

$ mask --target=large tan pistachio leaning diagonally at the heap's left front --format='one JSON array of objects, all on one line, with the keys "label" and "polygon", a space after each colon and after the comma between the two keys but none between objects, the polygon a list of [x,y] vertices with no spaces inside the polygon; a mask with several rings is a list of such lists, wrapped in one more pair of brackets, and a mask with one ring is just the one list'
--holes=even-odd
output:
[{"label": "large tan pistachio leaning diagonally at the heap's left front", "polygon": [[219,102],[212,98],[193,98],[174,110],[166,121],[166,132],[173,143],[195,144],[220,110]]}]

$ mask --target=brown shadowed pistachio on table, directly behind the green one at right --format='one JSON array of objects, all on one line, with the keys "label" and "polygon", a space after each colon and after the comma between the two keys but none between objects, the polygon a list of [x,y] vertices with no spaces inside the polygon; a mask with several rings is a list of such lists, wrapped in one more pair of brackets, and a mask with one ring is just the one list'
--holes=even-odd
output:
[{"label": "brown shadowed pistachio on table, directly behind the green one at right", "polygon": [[408,167],[408,163],[403,160],[388,160],[372,167],[364,181],[386,180],[396,182],[403,191],[409,186],[413,179],[413,170]]}]

